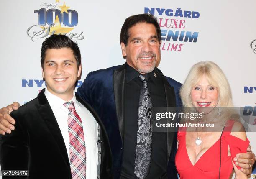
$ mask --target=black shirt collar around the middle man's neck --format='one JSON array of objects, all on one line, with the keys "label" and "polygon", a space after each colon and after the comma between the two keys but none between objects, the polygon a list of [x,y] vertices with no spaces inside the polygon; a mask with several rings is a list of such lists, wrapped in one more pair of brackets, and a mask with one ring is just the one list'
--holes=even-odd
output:
[{"label": "black shirt collar around the middle man's neck", "polygon": [[[129,66],[128,64],[126,64],[126,82],[130,82],[131,80],[133,80],[135,77],[137,77],[140,73],[134,69],[133,67]],[[154,84],[156,84],[156,80],[159,80],[159,76],[156,74],[156,70],[154,69],[152,72],[146,74],[149,79],[152,79],[152,81],[154,82]]]}]

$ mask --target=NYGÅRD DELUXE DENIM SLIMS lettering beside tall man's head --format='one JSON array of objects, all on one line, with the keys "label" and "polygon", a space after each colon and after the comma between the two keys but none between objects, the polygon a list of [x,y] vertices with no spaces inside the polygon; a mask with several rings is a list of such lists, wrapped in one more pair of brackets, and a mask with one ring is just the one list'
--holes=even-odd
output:
[{"label": "NYG\u00c5RD DELUXE DENIM SLIMS lettering beside tall man's head", "polygon": [[[182,10],[181,8],[144,7],[144,13],[158,17],[158,23],[161,28],[162,51],[181,51],[184,46],[181,42],[197,42],[199,32],[186,31],[186,21],[188,19],[185,20],[183,18],[198,19],[200,17],[199,12]],[[179,28],[180,30],[177,31],[174,28],[177,30]]]}]

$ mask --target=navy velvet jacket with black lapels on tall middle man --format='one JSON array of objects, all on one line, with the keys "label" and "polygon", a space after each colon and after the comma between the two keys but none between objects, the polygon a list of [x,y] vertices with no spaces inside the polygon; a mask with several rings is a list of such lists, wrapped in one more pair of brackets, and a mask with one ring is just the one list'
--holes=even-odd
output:
[{"label": "navy velvet jacket with black lapels on tall middle man", "polygon": [[[123,156],[124,138],[124,87],[126,69],[113,66],[104,70],[90,72],[77,93],[86,100],[97,112],[105,125],[110,140],[113,156],[113,175],[120,178],[120,169]],[[164,79],[164,89],[167,106],[180,106],[179,88],[181,84],[174,79],[165,77],[156,68],[156,73]],[[177,178],[174,158],[177,151],[177,133],[167,133],[168,178]]]}]

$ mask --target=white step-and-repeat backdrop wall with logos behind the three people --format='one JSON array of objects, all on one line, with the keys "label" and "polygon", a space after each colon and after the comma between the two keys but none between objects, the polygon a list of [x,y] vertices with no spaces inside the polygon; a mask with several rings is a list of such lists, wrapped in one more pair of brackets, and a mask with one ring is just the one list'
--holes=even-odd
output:
[{"label": "white step-and-repeat backdrop wall with logos behind the three people", "polygon": [[[49,35],[66,34],[79,45],[79,87],[90,71],[125,63],[119,43],[125,18],[151,13],[161,26],[159,69],[164,75],[183,83],[193,64],[214,61],[228,78],[235,106],[250,106],[251,115],[256,115],[252,112],[256,106],[255,0],[1,0],[0,4],[1,107],[14,101],[23,105],[46,87],[40,48]],[[256,151],[255,133],[247,134]]]}]

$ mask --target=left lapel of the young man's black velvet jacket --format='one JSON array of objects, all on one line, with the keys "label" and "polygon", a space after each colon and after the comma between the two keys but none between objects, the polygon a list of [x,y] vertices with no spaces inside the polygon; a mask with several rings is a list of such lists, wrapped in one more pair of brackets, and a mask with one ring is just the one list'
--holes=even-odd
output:
[{"label": "left lapel of the young man's black velvet jacket", "polygon": [[[41,90],[41,92],[38,94],[37,97],[38,97],[39,104],[36,105],[36,107],[37,107],[38,113],[46,123],[46,126],[48,127],[50,133],[54,138],[54,141],[56,142],[55,147],[58,148],[59,153],[63,157],[63,160],[67,165],[67,169],[70,170],[69,158],[68,158],[65,142],[62,137],[61,130],[59,128],[57,120],[54,116],[54,113],[51,110],[51,106],[49,105],[49,102],[47,101],[46,96],[44,95],[44,91],[45,89]],[[71,174],[71,171],[70,171],[70,174]]]}]

